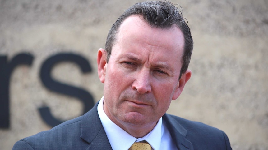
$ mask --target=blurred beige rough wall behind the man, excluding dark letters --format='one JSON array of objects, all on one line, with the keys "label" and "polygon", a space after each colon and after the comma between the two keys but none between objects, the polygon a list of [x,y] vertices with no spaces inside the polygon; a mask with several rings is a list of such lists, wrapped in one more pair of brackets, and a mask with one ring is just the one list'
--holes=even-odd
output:
[{"label": "blurred beige rough wall behind the man, excluding dark letters", "polygon": [[[268,150],[268,1],[170,1],[183,7],[195,43],[192,78],[168,112],[225,131],[234,150]],[[79,98],[42,83],[40,70],[49,58],[62,53],[84,57],[92,71],[59,62],[50,75],[84,89],[94,102],[101,98],[97,50],[104,48],[118,16],[135,2],[139,1],[0,0],[0,56],[7,58],[2,66],[21,53],[33,58],[30,65],[11,71],[10,124],[0,128],[0,149],[11,149],[17,140],[51,128],[40,116],[40,107],[49,107],[58,120],[83,114]]]}]

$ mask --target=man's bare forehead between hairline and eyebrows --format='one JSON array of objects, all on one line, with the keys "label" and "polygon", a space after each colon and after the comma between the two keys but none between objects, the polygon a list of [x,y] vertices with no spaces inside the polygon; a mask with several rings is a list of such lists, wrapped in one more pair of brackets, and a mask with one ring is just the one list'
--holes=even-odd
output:
[{"label": "man's bare forehead between hairline and eyebrows", "polygon": [[176,25],[167,29],[155,28],[149,26],[140,16],[132,15],[121,24],[115,45],[119,47],[139,46],[146,50],[154,50],[154,53],[158,52],[157,49],[164,48],[167,50],[166,52],[181,56],[184,48],[184,36]]}]

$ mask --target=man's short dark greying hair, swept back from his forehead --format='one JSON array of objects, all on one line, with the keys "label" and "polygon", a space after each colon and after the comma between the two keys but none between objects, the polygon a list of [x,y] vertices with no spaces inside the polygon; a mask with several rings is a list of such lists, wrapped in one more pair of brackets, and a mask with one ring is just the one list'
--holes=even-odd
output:
[{"label": "man's short dark greying hair, swept back from his forehead", "polygon": [[180,70],[180,76],[187,71],[189,66],[192,49],[193,49],[193,39],[191,35],[190,28],[185,22],[181,7],[168,2],[168,1],[147,1],[136,3],[133,6],[129,7],[113,24],[110,29],[106,44],[105,50],[107,52],[107,62],[112,53],[112,47],[116,40],[116,35],[118,33],[119,27],[122,22],[132,15],[138,15],[143,18],[143,20],[154,28],[171,28],[174,24],[183,32],[184,35],[184,50],[182,57],[182,68]]}]

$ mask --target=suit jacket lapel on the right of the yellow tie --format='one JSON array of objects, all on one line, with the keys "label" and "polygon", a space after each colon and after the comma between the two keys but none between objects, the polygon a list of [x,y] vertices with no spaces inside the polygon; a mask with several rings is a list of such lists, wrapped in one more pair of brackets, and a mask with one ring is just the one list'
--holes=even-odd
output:
[{"label": "suit jacket lapel on the right of the yellow tie", "polygon": [[193,150],[192,143],[185,138],[187,130],[168,114],[164,114],[163,120],[166,123],[178,150]]}]

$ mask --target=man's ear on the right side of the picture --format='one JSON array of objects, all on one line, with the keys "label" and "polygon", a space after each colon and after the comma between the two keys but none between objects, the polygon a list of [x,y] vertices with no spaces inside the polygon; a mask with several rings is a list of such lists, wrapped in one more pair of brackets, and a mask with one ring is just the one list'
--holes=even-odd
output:
[{"label": "man's ear on the right side of the picture", "polygon": [[172,100],[176,100],[181,95],[181,93],[183,92],[184,85],[191,78],[191,75],[192,75],[191,70],[187,70],[182,75],[181,79],[178,81],[178,84],[177,84],[176,89],[174,91],[174,94],[172,96]]}]

